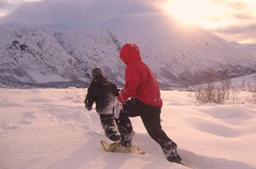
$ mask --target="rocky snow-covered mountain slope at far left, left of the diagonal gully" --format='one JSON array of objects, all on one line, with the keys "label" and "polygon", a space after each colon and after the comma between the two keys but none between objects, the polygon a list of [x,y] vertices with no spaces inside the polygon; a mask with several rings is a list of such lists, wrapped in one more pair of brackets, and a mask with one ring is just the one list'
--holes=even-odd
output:
[{"label": "rocky snow-covered mountain slope at far left, left of the diagonal gully", "polygon": [[1,27],[1,75],[21,82],[64,82],[80,78],[78,66],[55,37],[40,28]]}]

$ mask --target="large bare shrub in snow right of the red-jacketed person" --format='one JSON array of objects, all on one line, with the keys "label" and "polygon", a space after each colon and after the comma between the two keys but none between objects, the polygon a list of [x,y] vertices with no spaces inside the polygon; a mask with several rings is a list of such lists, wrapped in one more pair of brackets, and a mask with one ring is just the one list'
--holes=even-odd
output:
[{"label": "large bare shrub in snow right of the red-jacketed person", "polygon": [[224,104],[224,101],[230,96],[231,82],[227,71],[220,79],[216,71],[208,69],[205,77],[205,82],[195,87],[195,98],[201,103]]}]

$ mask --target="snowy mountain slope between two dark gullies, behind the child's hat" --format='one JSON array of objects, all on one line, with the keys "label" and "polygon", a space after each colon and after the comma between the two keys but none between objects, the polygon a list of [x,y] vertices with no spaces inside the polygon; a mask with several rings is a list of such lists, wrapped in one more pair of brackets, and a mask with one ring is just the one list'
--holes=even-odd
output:
[{"label": "snowy mountain slope between two dark gullies, behind the child's hat", "polygon": [[124,82],[125,65],[119,60],[119,49],[116,47],[119,45],[120,48],[121,44],[114,42],[109,31],[84,28],[58,35],[62,47],[77,60],[79,68],[87,77],[90,76],[90,70],[100,66],[111,81],[118,84]]}]

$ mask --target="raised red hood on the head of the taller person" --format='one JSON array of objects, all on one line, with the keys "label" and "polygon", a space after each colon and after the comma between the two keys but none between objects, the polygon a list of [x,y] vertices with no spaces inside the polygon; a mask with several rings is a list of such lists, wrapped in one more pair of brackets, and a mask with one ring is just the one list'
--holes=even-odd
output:
[{"label": "raised red hood on the head of the taller person", "polygon": [[132,42],[126,43],[120,50],[119,58],[128,65],[131,61],[142,60],[139,48]]}]

